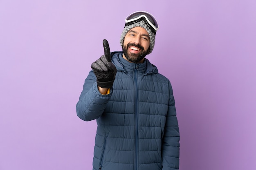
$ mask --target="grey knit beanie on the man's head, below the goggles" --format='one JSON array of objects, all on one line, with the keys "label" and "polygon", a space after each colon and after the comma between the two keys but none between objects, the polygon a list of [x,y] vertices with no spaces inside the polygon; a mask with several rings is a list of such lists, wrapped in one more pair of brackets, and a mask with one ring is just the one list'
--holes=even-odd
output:
[{"label": "grey knit beanie on the man's head, below the goggles", "polygon": [[139,22],[135,22],[133,24],[127,25],[124,27],[123,32],[121,33],[121,38],[120,38],[120,45],[123,48],[123,44],[124,44],[124,37],[126,36],[126,34],[130,31],[130,29],[140,26],[144,29],[146,29],[146,31],[148,32],[149,38],[150,38],[150,46],[149,46],[149,53],[151,53],[153,51],[153,48],[155,46],[155,33],[153,33],[151,31],[151,29],[149,28],[149,26],[145,23],[144,20],[141,20]]}]

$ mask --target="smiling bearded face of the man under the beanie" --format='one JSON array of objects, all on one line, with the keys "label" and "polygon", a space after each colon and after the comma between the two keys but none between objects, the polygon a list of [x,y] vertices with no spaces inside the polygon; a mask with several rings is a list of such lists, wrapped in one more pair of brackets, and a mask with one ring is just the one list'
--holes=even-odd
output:
[{"label": "smiling bearded face of the man under the beanie", "polygon": [[146,29],[134,27],[126,34],[123,44],[123,58],[129,62],[142,63],[148,54],[150,39]]}]

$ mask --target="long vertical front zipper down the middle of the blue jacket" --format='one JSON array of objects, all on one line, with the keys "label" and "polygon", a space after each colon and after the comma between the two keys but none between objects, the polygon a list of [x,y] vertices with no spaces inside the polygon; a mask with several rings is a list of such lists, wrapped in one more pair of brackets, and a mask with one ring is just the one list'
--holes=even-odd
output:
[{"label": "long vertical front zipper down the middle of the blue jacket", "polygon": [[134,169],[137,170],[138,167],[138,138],[139,138],[139,123],[138,123],[138,82],[137,82],[137,70],[139,65],[135,65],[134,71],[134,84],[135,84],[135,163]]}]

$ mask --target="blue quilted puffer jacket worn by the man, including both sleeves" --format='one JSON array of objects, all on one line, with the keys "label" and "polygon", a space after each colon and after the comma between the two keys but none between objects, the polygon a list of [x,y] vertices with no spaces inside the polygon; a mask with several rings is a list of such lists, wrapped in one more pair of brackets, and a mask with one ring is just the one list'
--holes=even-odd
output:
[{"label": "blue quilted puffer jacket worn by the man, including both sleeves", "polygon": [[145,59],[130,63],[111,53],[117,75],[101,95],[90,71],[76,105],[77,115],[97,119],[93,170],[177,170],[179,128],[170,81]]}]

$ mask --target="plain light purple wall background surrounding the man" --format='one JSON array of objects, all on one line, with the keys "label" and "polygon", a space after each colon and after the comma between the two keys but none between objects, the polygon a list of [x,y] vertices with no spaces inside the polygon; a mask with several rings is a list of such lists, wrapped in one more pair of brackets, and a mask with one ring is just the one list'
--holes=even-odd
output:
[{"label": "plain light purple wall background surrounding the man", "polygon": [[255,170],[255,0],[1,0],[0,170],[91,170],[96,121],[76,116],[102,40],[125,17],[159,30],[147,58],[173,85],[180,170]]}]

